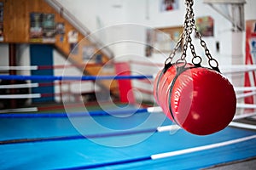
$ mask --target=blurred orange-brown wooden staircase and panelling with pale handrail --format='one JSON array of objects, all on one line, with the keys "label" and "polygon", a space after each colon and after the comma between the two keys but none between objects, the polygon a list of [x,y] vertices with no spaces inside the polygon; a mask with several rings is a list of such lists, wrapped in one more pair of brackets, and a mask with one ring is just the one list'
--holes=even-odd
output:
[{"label": "blurred orange-brown wooden staircase and panelling with pale handrail", "polygon": [[[0,0],[3,3],[3,43],[37,43],[52,44],[74,65],[83,71],[84,75],[103,76],[115,75],[114,65],[111,71],[104,71],[102,65],[113,59],[113,53],[108,48],[103,48],[102,42],[90,35],[90,31],[79,22],[67,9],[55,0]],[[65,31],[53,37],[54,41],[45,42],[43,38],[32,38],[32,14],[53,14],[55,23],[62,23]],[[43,23],[43,22],[42,22]],[[44,23],[45,24],[45,23]],[[43,25],[43,24],[42,24]],[[77,52],[71,53],[73,47],[68,34],[76,32]],[[90,35],[90,37],[87,37]],[[86,37],[86,38],[84,38]],[[43,39],[43,40],[42,40]],[[84,59],[84,47],[94,48],[94,57],[100,56],[100,64],[94,66],[86,65]],[[86,52],[86,51],[85,51]],[[90,61],[95,64],[96,61]],[[81,67],[84,65],[84,67]],[[109,65],[108,65],[109,66]],[[116,81],[96,82],[98,86],[110,91],[111,94],[119,96],[118,83]]]}]

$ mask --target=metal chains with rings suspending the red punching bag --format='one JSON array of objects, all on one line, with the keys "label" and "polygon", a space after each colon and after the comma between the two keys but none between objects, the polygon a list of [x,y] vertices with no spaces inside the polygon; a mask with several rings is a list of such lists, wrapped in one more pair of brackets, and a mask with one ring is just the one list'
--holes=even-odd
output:
[{"label": "metal chains with rings suspending the red punching bag", "polygon": [[[197,30],[195,26],[195,14],[193,10],[194,0],[185,0],[186,5],[186,14],[185,14],[185,20],[183,25],[183,32],[181,36],[179,37],[175,48],[173,48],[171,54],[166,59],[166,65],[172,62],[172,59],[174,58],[175,54],[177,53],[177,50],[181,47],[183,40],[183,52],[180,57],[180,59],[177,59],[178,61],[183,61],[186,63],[186,56],[187,56],[187,49],[190,48],[191,54],[193,55],[192,63],[195,64],[195,60],[198,60],[196,62],[197,65],[201,64],[201,57],[196,55],[195,53],[195,46],[192,43],[191,34],[193,31],[195,31],[195,36],[199,38],[201,47],[204,48],[205,54],[208,58],[208,63],[211,67],[218,67],[218,62],[216,59],[212,59],[212,55],[210,54],[209,49],[207,48],[207,43],[202,40],[200,32]],[[214,63],[213,63],[214,62]],[[216,65],[216,66],[213,66]]]}]

